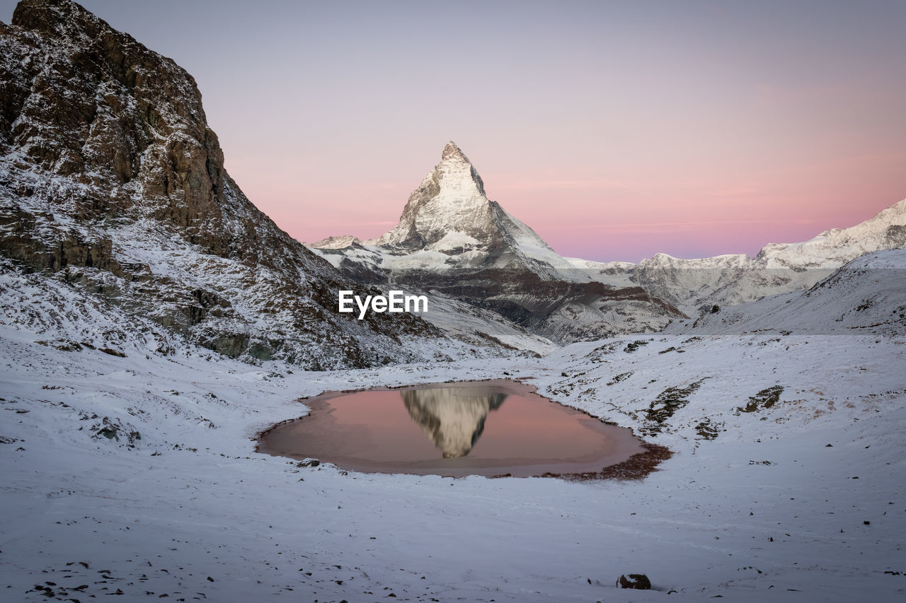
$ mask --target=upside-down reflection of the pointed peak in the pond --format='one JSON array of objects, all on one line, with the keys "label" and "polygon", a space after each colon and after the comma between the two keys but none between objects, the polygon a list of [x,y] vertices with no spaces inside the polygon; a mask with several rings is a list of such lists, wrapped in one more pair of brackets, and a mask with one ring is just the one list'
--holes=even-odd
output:
[{"label": "upside-down reflection of the pointed peak in the pond", "polygon": [[468,455],[485,430],[487,413],[506,400],[499,392],[476,395],[475,388],[410,389],[400,394],[409,416],[444,458]]}]

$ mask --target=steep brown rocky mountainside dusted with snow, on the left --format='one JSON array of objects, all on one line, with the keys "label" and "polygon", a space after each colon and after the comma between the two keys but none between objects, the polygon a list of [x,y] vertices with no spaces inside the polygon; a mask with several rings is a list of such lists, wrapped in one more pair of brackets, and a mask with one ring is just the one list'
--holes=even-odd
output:
[{"label": "steep brown rocky mountainside dusted with snow, on the left", "polygon": [[361,283],[246,199],[192,77],[69,0],[24,0],[0,24],[0,98],[5,319],[43,324],[50,345],[75,349],[67,312],[91,308],[110,329],[74,344],[118,353],[136,333],[306,369],[550,348],[338,313],[337,292]]}]

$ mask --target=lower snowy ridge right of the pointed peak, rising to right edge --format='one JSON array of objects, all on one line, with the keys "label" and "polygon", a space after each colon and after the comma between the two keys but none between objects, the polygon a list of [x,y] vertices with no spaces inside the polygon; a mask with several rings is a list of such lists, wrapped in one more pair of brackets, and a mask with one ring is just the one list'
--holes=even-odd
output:
[{"label": "lower snowy ridge right of the pointed peak, rising to right edge", "polygon": [[766,244],[745,254],[679,259],[655,254],[638,264],[572,259],[602,282],[635,283],[689,315],[803,290],[843,264],[882,250],[906,246],[906,199],[862,224],[824,231],[804,243]]}]

